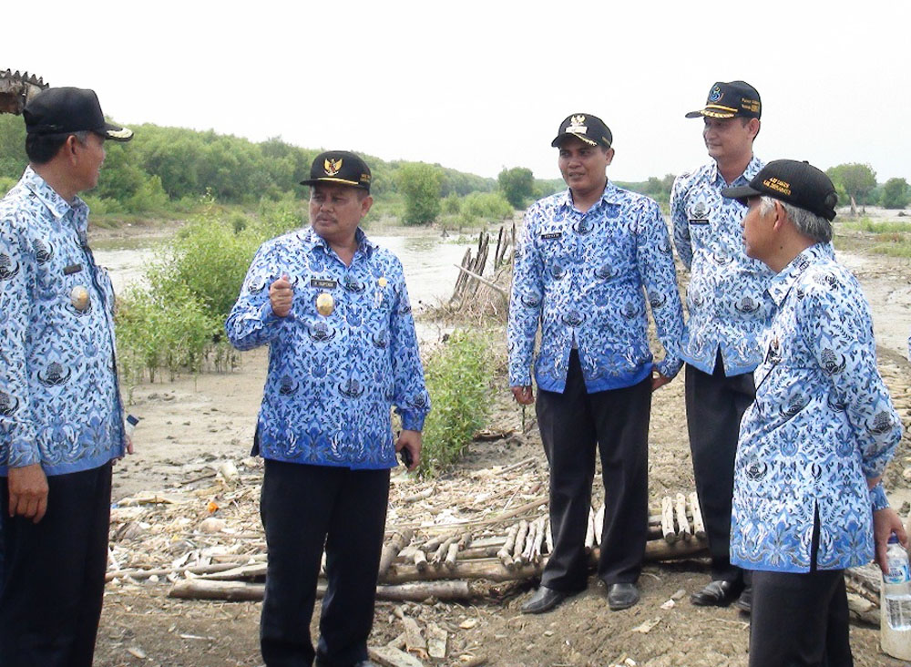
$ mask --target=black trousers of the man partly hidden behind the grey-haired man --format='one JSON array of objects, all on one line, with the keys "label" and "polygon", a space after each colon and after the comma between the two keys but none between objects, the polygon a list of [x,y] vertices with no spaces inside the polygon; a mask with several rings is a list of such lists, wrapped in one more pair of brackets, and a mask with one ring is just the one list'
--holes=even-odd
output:
[{"label": "black trousers of the man partly hidden behind the grey-haired man", "polygon": [[731,564],[731,499],[741,418],[756,397],[752,373],[726,377],[719,352],[711,375],[686,364],[685,393],[696,493],[709,538],[711,578],[740,581],[742,570]]}]

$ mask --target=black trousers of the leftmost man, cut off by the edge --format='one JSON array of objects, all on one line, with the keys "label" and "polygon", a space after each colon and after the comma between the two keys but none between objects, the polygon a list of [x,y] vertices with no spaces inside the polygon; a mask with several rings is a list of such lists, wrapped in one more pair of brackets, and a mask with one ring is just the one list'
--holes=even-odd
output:
[{"label": "black trousers of the leftmost man, cut off by the edge", "polygon": [[47,477],[47,513],[37,524],[9,518],[0,478],[4,572],[0,665],[90,667],[107,570],[111,464]]}]

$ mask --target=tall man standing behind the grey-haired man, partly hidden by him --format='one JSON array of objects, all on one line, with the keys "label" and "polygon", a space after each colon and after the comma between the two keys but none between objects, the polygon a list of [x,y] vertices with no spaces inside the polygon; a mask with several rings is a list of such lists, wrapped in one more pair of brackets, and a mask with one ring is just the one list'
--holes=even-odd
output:
[{"label": "tall man standing behind the grey-haired man, partly hidden by him", "polygon": [[686,115],[702,118],[711,162],[679,176],[670,192],[674,241],[691,272],[682,356],[692,467],[711,553],[711,582],[691,600],[720,606],[737,600],[742,611],[750,610],[751,591],[729,554],[734,454],[774,304],[765,294],[772,273],[743,252],[743,209],[721,190],[746,184],[762,169],[752,154],[762,112],[748,83],[714,84],[705,107]]}]

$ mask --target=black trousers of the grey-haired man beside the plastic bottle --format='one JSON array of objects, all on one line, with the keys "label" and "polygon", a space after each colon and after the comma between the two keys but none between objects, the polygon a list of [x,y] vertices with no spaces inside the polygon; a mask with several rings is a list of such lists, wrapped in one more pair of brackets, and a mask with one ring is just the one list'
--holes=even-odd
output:
[{"label": "black trousers of the grey-haired man beside the plastic bottle", "polygon": [[750,667],[853,667],[844,570],[816,570],[819,516],[810,571],[752,572]]}]

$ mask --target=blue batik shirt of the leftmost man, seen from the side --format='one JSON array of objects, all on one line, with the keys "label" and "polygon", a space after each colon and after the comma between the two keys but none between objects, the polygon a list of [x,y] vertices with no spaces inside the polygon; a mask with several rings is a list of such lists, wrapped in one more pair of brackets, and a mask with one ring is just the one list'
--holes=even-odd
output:
[{"label": "blue batik shirt of the leftmost man, seen from the side", "polygon": [[0,475],[123,456],[114,291],[87,228],[85,202],[67,203],[31,167],[0,200]]}]

